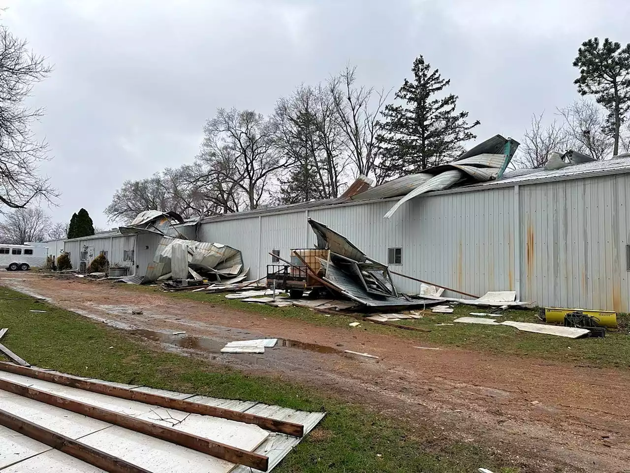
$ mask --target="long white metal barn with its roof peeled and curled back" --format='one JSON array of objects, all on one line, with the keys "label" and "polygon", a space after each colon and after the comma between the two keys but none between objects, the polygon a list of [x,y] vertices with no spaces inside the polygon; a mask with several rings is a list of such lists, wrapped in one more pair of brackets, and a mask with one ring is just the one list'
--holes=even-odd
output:
[{"label": "long white metal barn with its roof peeled and curled back", "polygon": [[[76,269],[107,252],[110,264],[128,267],[139,282],[147,271],[165,275],[154,266],[165,236],[182,240],[176,250],[187,248],[189,264],[197,249],[207,250],[190,240],[214,242],[215,250],[239,250],[240,274],[258,279],[279,262],[270,253],[290,259],[294,248],[316,247],[312,219],[391,271],[440,286],[630,312],[630,157],[593,161],[569,151],[553,153],[543,168],[506,170],[517,146],[497,135],[448,165],[371,188],[360,178],[326,201],[193,222],[147,211],[117,232],[66,240],[65,249]],[[410,279],[392,280],[401,292],[420,291]]]}]

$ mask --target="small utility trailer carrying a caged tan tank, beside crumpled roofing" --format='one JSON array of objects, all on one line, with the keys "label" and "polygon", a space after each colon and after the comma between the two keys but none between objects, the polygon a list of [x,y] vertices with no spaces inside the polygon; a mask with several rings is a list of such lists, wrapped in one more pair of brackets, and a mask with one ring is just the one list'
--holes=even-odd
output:
[{"label": "small utility trailer carrying a caged tan tank, beside crumpled roofing", "polygon": [[301,298],[306,290],[312,291],[313,295],[317,295],[319,291],[326,288],[312,276],[312,272],[318,274],[321,269],[319,259],[328,259],[328,250],[296,248],[291,250],[290,255],[290,265],[267,265],[268,288],[289,291],[289,296],[292,299]]}]

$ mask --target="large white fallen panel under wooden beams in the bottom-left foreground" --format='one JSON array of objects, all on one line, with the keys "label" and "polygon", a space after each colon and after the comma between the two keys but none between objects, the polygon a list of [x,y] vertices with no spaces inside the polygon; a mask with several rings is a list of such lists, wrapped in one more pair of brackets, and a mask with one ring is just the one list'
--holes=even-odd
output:
[{"label": "large white fallen panel under wooden beams in the bottom-left foreground", "polygon": [[[54,371],[52,373],[62,374]],[[284,433],[266,431],[255,424],[166,409],[144,402],[97,394],[6,371],[0,371],[0,378],[24,387],[42,390],[54,396],[79,400],[89,406],[103,407],[123,416],[140,419],[140,421],[149,421],[183,433],[219,441],[247,452],[263,455],[268,457],[267,471],[272,470],[302,440],[302,438]],[[88,381],[113,384],[95,379]],[[131,392],[155,394],[170,399],[231,409],[246,415],[253,414],[277,421],[300,424],[303,426],[304,435],[307,435],[326,415],[324,412],[295,411],[294,409],[269,406],[255,401],[217,399],[123,383],[115,383],[115,386]],[[0,390],[0,399],[2,400],[3,411],[9,412],[12,416],[25,419],[37,427],[49,429],[52,433],[78,440],[81,444],[98,452],[112,455],[115,460],[129,462],[151,473],[249,473],[256,471],[207,453],[181,447],[167,440],[105,423],[76,412],[67,411],[61,407],[43,404],[43,402],[18,394]],[[16,472],[96,473],[102,471],[6,426],[0,426],[0,445],[11,445],[10,458],[6,456],[3,458],[0,447],[0,469],[6,467],[7,471],[9,469]],[[9,467],[8,465],[13,466]]]}]

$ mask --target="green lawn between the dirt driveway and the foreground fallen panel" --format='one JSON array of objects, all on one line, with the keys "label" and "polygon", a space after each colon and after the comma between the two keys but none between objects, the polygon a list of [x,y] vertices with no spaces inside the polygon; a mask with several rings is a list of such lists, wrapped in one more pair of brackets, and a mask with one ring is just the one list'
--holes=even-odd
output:
[{"label": "green lawn between the dirt driveway and the foreground fallen panel", "polygon": [[[29,312],[31,309],[47,312]],[[328,412],[323,423],[274,470],[278,473],[469,473],[481,466],[495,473],[520,471],[508,467],[510,461],[491,453],[494,450],[452,441],[430,425],[388,419],[367,406],[319,392],[317,387],[244,375],[201,359],[157,351],[125,332],[6,288],[0,288],[0,327],[9,328],[3,343],[33,365],[117,382]]]}]

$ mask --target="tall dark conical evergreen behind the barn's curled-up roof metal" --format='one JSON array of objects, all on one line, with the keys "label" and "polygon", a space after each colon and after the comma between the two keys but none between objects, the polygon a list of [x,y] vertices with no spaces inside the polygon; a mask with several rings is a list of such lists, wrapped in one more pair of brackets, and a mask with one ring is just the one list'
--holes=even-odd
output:
[{"label": "tall dark conical evergreen behind the barn's curled-up roof metal", "polygon": [[440,94],[450,85],[438,69],[432,70],[422,56],[413,62],[413,80],[404,79],[395,98],[383,111],[382,132],[377,137],[381,167],[390,177],[421,172],[453,160],[462,144],[476,138],[466,122],[468,112],[455,112],[457,96]]}]

